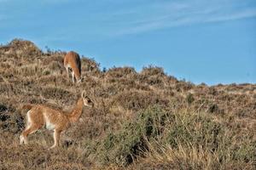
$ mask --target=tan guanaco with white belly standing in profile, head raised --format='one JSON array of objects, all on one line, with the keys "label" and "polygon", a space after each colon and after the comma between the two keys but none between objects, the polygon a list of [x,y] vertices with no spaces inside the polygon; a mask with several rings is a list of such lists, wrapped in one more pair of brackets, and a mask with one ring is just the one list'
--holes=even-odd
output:
[{"label": "tan guanaco with white belly standing in profile, head raised", "polygon": [[45,105],[23,105],[22,109],[29,111],[26,114],[26,129],[20,135],[20,144],[27,144],[27,135],[35,133],[39,128],[45,126],[49,130],[54,130],[55,144],[50,148],[58,146],[61,132],[67,130],[71,123],[79,120],[84,105],[94,106],[94,103],[85,95],[85,92],[81,94],[81,98],[77,101],[73,111],[68,114],[65,114],[64,111],[51,109]]}]

